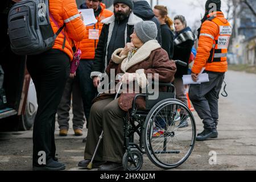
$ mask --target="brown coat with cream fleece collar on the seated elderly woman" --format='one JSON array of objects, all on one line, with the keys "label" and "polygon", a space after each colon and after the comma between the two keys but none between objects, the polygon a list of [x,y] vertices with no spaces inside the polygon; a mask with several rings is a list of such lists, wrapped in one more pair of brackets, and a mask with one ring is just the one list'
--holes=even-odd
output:
[{"label": "brown coat with cream fleece collar on the seated elderly woman", "polygon": [[[110,69],[115,69],[115,76],[119,73],[136,73],[134,85],[138,84],[141,89],[147,86],[147,76],[152,74],[154,81],[154,74],[159,74],[159,82],[172,82],[176,72],[176,65],[174,61],[170,61],[168,54],[160,47],[156,40],[150,40],[137,49],[137,52],[128,59],[127,55],[119,56],[123,48],[114,51],[112,60],[106,68],[106,73],[110,75]],[[159,88],[164,90],[164,88]],[[134,93],[121,93],[119,96],[118,105],[124,111],[129,111],[133,104],[133,99],[136,95],[135,87]],[[112,95],[112,96],[111,96]],[[102,100],[108,97],[113,97],[113,94],[103,93],[96,100]],[[138,98],[136,102],[139,109],[145,109],[144,98]]]}]

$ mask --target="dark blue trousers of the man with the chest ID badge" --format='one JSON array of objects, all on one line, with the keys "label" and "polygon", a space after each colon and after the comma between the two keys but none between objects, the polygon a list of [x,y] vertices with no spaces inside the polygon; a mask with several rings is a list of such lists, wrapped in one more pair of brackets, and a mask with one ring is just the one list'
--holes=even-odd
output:
[{"label": "dark blue trousers of the man with the chest ID badge", "polygon": [[88,128],[90,107],[92,100],[97,94],[97,88],[94,88],[90,72],[92,72],[93,60],[80,60],[76,76],[79,80],[82,102],[84,105],[84,113],[86,118],[86,128]]}]

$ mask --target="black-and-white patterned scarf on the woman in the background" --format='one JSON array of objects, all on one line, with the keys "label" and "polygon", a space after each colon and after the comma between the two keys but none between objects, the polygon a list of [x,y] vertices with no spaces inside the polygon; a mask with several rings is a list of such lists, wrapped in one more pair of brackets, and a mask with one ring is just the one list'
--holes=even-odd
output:
[{"label": "black-and-white patterned scarf on the woman in the background", "polygon": [[175,32],[175,36],[174,36],[174,44],[175,45],[179,45],[183,42],[186,42],[187,40],[192,40],[192,41],[196,40],[196,36],[191,31],[191,28],[186,27],[179,33]]}]

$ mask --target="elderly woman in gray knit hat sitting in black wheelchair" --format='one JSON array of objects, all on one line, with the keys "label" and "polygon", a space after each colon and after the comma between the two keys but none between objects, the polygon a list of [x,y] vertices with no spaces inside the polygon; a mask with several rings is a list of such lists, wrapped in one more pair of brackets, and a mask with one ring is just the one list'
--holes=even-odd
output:
[{"label": "elderly woman in gray knit hat sitting in black wheelchair", "polygon": [[[171,117],[172,121],[174,121],[173,118],[177,110],[185,108],[183,103],[177,103],[179,105],[167,105],[165,107],[165,114],[161,109],[159,111],[160,113],[154,114],[150,109],[157,103],[156,100],[153,101],[155,102],[153,105],[151,103],[151,106],[147,106],[145,99],[146,97],[148,98],[149,94],[147,94],[147,92],[146,94],[141,94],[142,90],[147,90],[147,85],[150,84],[150,82],[148,82],[149,77],[152,81],[163,83],[163,85],[158,85],[159,92],[166,92],[172,89],[170,82],[174,80],[176,65],[174,61],[168,59],[167,52],[164,51],[155,40],[156,35],[157,28],[154,22],[139,22],[134,25],[131,43],[127,43],[125,48],[119,48],[114,51],[106,73],[109,75],[110,69],[114,69],[115,76],[119,73],[123,74],[120,79],[123,83],[123,91],[116,99],[116,93],[103,93],[94,100],[89,117],[89,129],[84,154],[85,160],[79,162],[80,167],[86,167],[89,164],[90,167],[88,166],[88,168],[99,167],[98,170],[122,170],[124,168],[127,170],[139,170],[143,163],[142,153],[147,153],[147,155],[151,155],[151,157],[148,157],[157,166],[170,168],[170,166],[168,166],[169,164],[167,164],[167,166],[166,163],[159,164],[162,162],[162,159],[159,160],[159,154],[162,155],[164,151],[167,150],[166,154],[169,155],[176,154],[180,149],[182,151],[183,148],[181,145],[181,148],[175,147],[169,152],[171,148],[168,148],[167,139],[170,138],[171,135],[174,135],[174,133],[166,133],[164,134],[166,137],[162,137],[166,138],[164,139],[165,141],[163,141],[165,147],[167,147],[165,149],[160,149],[162,146],[157,146],[158,144],[155,146],[155,144],[152,143],[154,142],[152,140],[155,138],[146,136],[152,136],[155,122],[158,122],[157,120],[159,119],[167,123],[166,128],[170,126],[175,128],[175,123],[170,125],[170,119],[167,117]],[[136,84],[139,87],[138,90],[135,89],[138,88],[134,86]],[[126,87],[124,85],[132,86]],[[167,90],[168,87],[169,89]],[[167,100],[168,97],[172,97],[172,100],[174,100],[174,90],[175,89],[172,89],[172,91],[169,92],[170,94],[166,95]],[[165,102],[163,102],[163,104],[165,104]],[[168,113],[169,110],[171,113]],[[141,111],[141,113],[139,113],[139,111]],[[147,123],[151,124],[145,123],[148,118],[148,111],[155,116],[154,121],[152,121],[152,117],[150,121],[147,121]],[[193,117],[191,117],[192,114],[189,113],[189,110],[187,110],[187,113],[185,119],[191,118],[191,121],[193,121]],[[146,126],[145,129],[142,126],[146,124],[148,126]],[[104,133],[103,138],[101,133],[102,135]],[[139,135],[139,145],[134,143],[134,133]],[[102,141],[98,142],[100,135],[100,140],[102,138]],[[143,137],[147,138],[148,141],[146,141],[146,143],[148,143],[149,146],[145,146],[146,143],[142,141],[144,140]],[[174,138],[171,139],[174,140]],[[156,143],[162,142],[161,140],[162,139],[159,139]],[[189,154],[190,152],[191,151],[189,151]],[[154,156],[153,153],[156,156]],[[187,158],[187,156],[183,154],[183,158],[184,157]],[[90,160],[94,160],[94,162],[90,163]],[[171,167],[174,166],[172,165]]]}]

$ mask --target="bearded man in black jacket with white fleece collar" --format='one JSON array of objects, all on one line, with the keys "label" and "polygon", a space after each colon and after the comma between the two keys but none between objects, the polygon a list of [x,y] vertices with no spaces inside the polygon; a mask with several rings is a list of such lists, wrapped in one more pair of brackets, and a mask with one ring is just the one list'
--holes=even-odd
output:
[{"label": "bearded man in black jacket with white fleece collar", "polygon": [[98,86],[101,73],[105,72],[115,49],[125,47],[131,42],[130,35],[133,34],[134,24],[141,22],[141,18],[133,14],[132,0],[114,0],[114,15],[101,21],[102,27],[100,39],[93,61],[90,77],[93,78],[93,85]]}]

